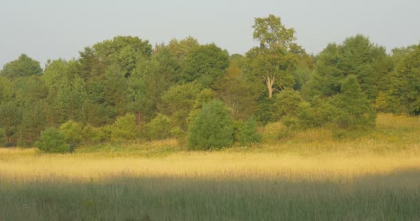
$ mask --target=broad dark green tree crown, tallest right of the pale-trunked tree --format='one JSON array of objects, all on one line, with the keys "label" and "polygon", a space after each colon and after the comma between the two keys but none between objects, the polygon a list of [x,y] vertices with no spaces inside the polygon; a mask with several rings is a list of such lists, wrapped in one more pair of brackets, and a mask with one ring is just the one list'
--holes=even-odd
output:
[{"label": "broad dark green tree crown, tallest right of the pale-trunked tree", "polygon": [[374,100],[379,91],[388,89],[392,62],[385,48],[376,46],[363,35],[345,39],[342,45],[330,44],[316,58],[308,95],[332,96],[341,91],[341,81],[356,75],[361,88]]}]

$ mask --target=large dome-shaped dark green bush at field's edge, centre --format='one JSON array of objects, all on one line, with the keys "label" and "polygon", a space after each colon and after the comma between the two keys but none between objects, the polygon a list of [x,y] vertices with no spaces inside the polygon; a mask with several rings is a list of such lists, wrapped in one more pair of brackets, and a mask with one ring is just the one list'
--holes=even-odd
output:
[{"label": "large dome-shaped dark green bush at field's edge, centre", "polygon": [[233,119],[227,106],[219,100],[205,104],[189,124],[190,150],[208,150],[233,144]]}]

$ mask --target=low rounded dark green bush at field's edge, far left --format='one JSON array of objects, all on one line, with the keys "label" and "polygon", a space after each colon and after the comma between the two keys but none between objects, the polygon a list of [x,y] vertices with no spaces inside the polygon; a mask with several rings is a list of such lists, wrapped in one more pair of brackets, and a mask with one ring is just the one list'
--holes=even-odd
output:
[{"label": "low rounded dark green bush at field's edge, far left", "polygon": [[41,133],[39,140],[35,142],[35,147],[45,153],[68,153],[70,146],[66,144],[66,136],[57,128],[46,128]]}]

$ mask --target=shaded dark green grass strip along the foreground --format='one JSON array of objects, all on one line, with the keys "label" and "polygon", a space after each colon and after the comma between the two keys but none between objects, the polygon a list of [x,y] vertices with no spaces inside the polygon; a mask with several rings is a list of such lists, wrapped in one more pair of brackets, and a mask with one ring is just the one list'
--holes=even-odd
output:
[{"label": "shaded dark green grass strip along the foreground", "polygon": [[420,220],[420,171],[343,183],[174,177],[2,182],[0,220]]}]

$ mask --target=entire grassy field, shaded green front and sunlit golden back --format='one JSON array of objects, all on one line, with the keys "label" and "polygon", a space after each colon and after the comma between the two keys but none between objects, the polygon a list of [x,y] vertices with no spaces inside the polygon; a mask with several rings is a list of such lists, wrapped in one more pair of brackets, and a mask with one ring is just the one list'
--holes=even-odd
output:
[{"label": "entire grassy field, shaded green front and sunlit golden back", "polygon": [[420,118],[379,115],[340,140],[273,127],[264,144],[214,152],[0,148],[0,220],[420,220]]}]

